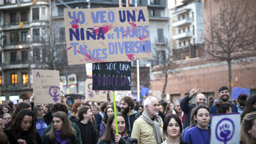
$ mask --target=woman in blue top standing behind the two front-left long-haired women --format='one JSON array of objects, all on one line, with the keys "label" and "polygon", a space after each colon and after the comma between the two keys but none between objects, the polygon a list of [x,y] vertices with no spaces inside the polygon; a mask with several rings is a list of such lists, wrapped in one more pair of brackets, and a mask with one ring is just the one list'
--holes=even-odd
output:
[{"label": "woman in blue top standing behind the two front-left long-haired women", "polygon": [[47,127],[47,124],[44,121],[44,109],[41,105],[35,105],[33,108],[33,113],[36,119],[36,130],[38,131],[38,133],[40,134],[40,136],[42,137],[44,130]]}]

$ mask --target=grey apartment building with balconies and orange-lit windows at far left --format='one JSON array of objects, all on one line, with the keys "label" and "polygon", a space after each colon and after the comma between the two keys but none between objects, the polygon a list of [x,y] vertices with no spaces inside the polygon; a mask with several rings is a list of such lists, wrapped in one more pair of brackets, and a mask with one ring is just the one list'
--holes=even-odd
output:
[{"label": "grey apartment building with balconies and orange-lit windows at far left", "polygon": [[33,93],[31,68],[42,56],[37,42],[45,37],[50,4],[46,0],[0,2],[0,90],[6,100],[12,95],[26,100]]}]

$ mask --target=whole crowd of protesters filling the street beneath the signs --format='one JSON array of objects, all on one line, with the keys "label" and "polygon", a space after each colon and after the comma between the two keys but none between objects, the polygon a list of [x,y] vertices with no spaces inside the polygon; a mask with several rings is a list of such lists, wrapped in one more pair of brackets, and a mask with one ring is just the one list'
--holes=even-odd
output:
[{"label": "whole crowd of protesters filling the street beneath the signs", "polygon": [[[228,87],[221,86],[219,98],[206,103],[199,90],[195,86],[174,102],[149,96],[141,103],[124,96],[116,105],[117,123],[113,102],[77,101],[70,106],[60,95],[61,103],[35,105],[33,94],[30,104],[10,101],[1,106],[0,144],[210,143],[211,115],[230,113],[241,114],[240,143],[256,143],[256,95],[240,94],[233,103]],[[190,103],[193,97],[195,104]]]}]

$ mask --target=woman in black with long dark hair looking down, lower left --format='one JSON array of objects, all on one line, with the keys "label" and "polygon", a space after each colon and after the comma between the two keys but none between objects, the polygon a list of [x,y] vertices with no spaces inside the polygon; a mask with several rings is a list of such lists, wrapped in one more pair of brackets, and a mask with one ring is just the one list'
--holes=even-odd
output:
[{"label": "woman in black with long dark hair looking down, lower left", "polygon": [[13,124],[4,131],[10,143],[42,143],[39,133],[35,129],[34,114],[30,109],[23,109],[15,117]]}]

